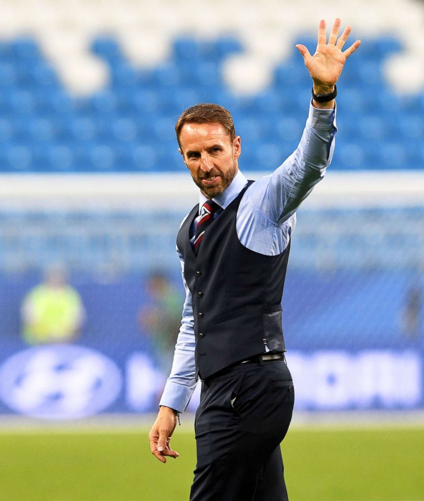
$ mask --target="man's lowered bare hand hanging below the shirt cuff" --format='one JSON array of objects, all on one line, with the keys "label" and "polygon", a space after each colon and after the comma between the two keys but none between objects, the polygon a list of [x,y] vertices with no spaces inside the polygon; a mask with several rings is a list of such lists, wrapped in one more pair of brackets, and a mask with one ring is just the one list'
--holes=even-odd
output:
[{"label": "man's lowered bare hand hanging below the shirt cuff", "polygon": [[171,448],[171,436],[177,426],[178,415],[174,409],[161,406],[149,433],[150,450],[153,456],[166,463],[165,456],[178,458],[180,455]]}]

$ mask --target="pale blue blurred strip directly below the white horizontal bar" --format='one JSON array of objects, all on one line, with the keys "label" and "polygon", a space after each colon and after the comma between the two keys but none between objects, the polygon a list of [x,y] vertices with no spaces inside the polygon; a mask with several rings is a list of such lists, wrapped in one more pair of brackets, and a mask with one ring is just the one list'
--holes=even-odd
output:
[{"label": "pale blue blurred strip directly below the white horizontal bar", "polygon": [[[176,270],[175,234],[184,213],[0,211],[0,272],[62,261],[87,272]],[[424,208],[300,209],[292,268],[419,270]],[[325,231],[324,231],[325,228]]]}]

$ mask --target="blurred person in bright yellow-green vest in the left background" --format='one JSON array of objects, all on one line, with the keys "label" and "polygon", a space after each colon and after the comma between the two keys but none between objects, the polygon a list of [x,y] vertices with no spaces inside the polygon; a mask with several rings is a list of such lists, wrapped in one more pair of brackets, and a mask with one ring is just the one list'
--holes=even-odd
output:
[{"label": "blurred person in bright yellow-green vest in the left background", "polygon": [[85,316],[80,295],[67,283],[64,268],[55,265],[24,297],[22,336],[29,344],[70,342],[79,335]]}]

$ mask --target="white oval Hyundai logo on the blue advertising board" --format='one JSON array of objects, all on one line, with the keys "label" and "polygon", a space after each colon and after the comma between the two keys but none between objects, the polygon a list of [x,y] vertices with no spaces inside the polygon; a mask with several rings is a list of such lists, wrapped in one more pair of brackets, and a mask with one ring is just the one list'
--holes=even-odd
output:
[{"label": "white oval Hyundai logo on the blue advertising board", "polygon": [[73,419],[103,411],[122,387],[118,367],[94,349],[70,344],[32,347],[0,367],[0,398],[41,419]]}]

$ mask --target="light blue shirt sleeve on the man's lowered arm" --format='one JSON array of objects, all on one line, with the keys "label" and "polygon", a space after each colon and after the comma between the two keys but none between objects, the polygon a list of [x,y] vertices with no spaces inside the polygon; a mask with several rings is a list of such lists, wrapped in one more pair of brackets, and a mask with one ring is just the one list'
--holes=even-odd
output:
[{"label": "light blue shirt sleeve on the man's lowered arm", "polygon": [[191,292],[184,277],[184,259],[178,249],[177,254],[180,257],[186,299],[171,374],[169,374],[166,381],[159,405],[171,407],[178,412],[184,412],[196,387],[196,364],[194,360],[196,341]]}]

